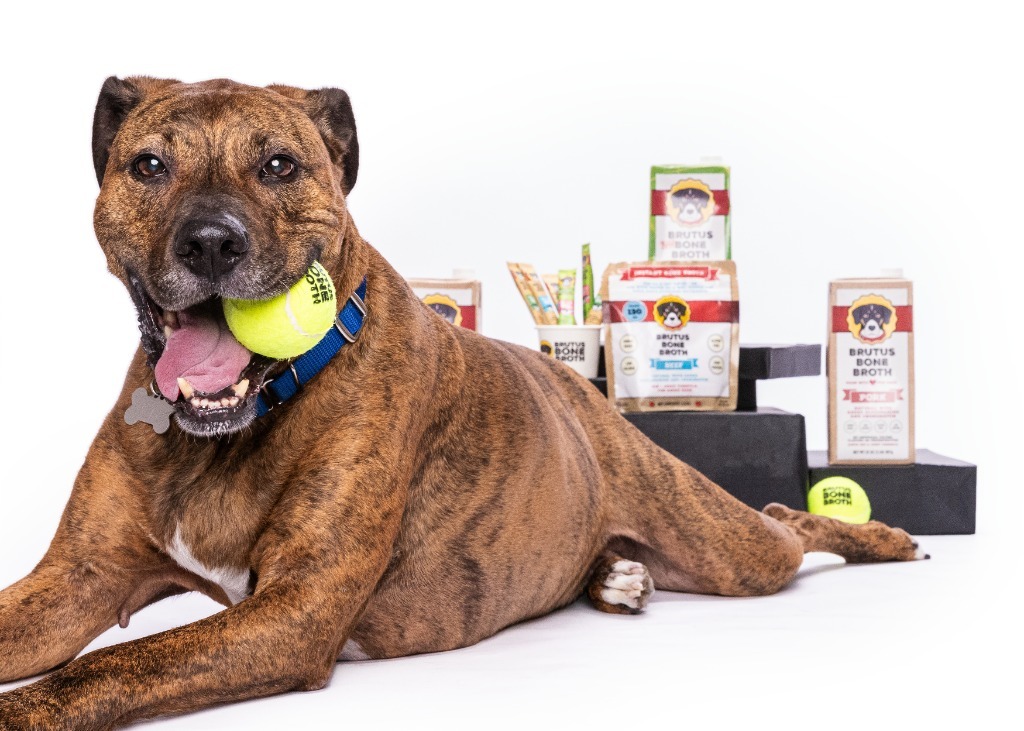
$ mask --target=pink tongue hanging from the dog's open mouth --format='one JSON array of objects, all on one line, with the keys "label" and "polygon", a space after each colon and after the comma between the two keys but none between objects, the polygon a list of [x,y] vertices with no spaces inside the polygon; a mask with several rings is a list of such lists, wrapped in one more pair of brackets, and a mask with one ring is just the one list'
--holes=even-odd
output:
[{"label": "pink tongue hanging from the dog's open mouth", "polygon": [[234,339],[227,322],[205,313],[178,312],[177,330],[171,332],[157,361],[157,386],[170,400],[178,397],[178,379],[207,393],[216,393],[239,380],[252,353]]}]

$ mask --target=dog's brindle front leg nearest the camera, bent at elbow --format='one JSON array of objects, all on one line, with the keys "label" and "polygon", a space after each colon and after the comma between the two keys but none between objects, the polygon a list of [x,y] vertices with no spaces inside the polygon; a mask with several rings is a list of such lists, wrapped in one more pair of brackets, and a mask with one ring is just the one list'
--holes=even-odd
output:
[{"label": "dog's brindle front leg nearest the camera, bent at elbow", "polygon": [[343,467],[308,470],[287,487],[253,552],[253,596],[0,695],[0,729],[111,729],[324,687],[387,566],[401,519],[402,470],[375,449],[360,463],[347,454],[326,460]]}]

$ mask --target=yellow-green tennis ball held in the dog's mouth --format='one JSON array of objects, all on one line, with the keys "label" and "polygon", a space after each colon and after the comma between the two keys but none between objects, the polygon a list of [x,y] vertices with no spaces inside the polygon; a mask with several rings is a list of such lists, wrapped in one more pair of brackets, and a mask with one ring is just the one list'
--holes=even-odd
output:
[{"label": "yellow-green tennis ball held in the dog's mouth", "polygon": [[291,358],[316,345],[337,315],[334,283],[318,262],[285,294],[269,300],[224,300],[236,339],[254,353]]}]

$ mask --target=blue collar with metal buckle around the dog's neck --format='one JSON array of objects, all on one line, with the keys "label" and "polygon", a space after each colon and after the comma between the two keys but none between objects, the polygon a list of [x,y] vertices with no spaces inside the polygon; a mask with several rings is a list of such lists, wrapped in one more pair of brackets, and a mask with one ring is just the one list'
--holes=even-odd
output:
[{"label": "blue collar with metal buckle around the dog's neck", "polygon": [[256,396],[256,416],[261,417],[267,412],[280,406],[298,393],[302,386],[318,374],[331,362],[331,358],[349,343],[354,343],[362,330],[362,320],[367,316],[367,278],[348,298],[345,306],[334,320],[334,327],[310,350],[289,363],[288,370],[276,378],[263,383]]}]

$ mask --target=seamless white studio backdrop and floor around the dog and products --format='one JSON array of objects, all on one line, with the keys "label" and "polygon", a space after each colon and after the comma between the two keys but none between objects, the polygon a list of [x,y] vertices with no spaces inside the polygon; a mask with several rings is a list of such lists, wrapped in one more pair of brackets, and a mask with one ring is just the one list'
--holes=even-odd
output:
[{"label": "seamless white studio backdrop and floor around the dog and products", "polygon": [[[810,727],[827,713],[942,726],[1007,707],[985,648],[1019,662],[1024,124],[1009,3],[25,7],[0,46],[0,585],[44,551],[137,343],[91,226],[91,116],[111,74],[345,88],[364,236],[410,276],[474,268],[485,334],[523,344],[506,260],[575,266],[585,241],[598,271],[644,258],[649,166],[720,155],[742,341],[822,342],[830,278],[903,267],[918,444],[979,465],[979,534],[933,540],[927,565],[812,571],[753,603],[660,595],[633,625],[581,605],[165,727]],[[760,395],[824,446],[823,378]],[[168,602],[129,633],[210,610]]]}]

